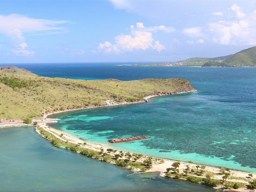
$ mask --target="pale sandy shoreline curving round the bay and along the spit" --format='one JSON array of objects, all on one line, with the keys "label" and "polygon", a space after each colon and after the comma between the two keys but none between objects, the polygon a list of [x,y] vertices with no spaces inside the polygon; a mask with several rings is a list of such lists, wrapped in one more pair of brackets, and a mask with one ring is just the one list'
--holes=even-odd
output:
[{"label": "pale sandy shoreline curving round the bay and along the spit", "polygon": [[[191,91],[191,92],[195,92]],[[179,92],[179,93],[187,93],[187,92]],[[179,93],[170,93],[170,94],[179,94]],[[82,109],[90,109],[90,108],[98,108],[98,107],[108,107],[108,106],[114,106],[114,105],[124,105],[124,104],[134,104],[134,103],[142,103],[142,102],[148,102],[149,98],[152,97],[156,97],[156,96],[161,96],[161,95],[169,95],[169,94],[159,94],[159,95],[149,95],[147,97],[142,98],[139,101],[135,101],[135,102],[115,102],[112,100],[107,100],[105,105],[102,106],[90,106],[87,108],[78,108],[78,109],[68,109],[68,110],[63,110],[63,111],[56,111],[56,112],[52,112],[52,113],[47,113],[44,114],[43,119],[41,120],[35,120],[37,122],[37,125],[41,128],[43,128],[45,131],[50,132],[52,135],[54,135],[55,137],[57,137],[60,140],[63,141],[68,141],[74,144],[79,144],[79,143],[84,143],[84,140],[80,140],[72,135],[67,134],[66,132],[62,132],[60,130],[56,130],[52,127],[49,127],[47,124],[48,123],[56,123],[59,119],[52,119],[52,118],[47,118],[47,116],[52,115],[52,114],[56,114],[56,113],[62,113],[62,112],[67,112],[67,111],[75,111],[75,110],[82,110]],[[35,122],[33,121],[33,122]],[[33,126],[33,124],[24,124],[24,123],[17,123],[17,124],[5,124],[4,126],[0,126],[0,128],[3,127],[13,127],[13,126]],[[36,129],[36,131],[40,134],[40,132]],[[40,134],[41,135],[41,134]],[[63,135],[63,136],[60,136]],[[109,147],[104,146],[103,144],[96,144],[96,143],[87,143],[86,145],[82,145],[82,148],[88,148],[88,149],[92,149],[95,151],[100,151],[100,148],[103,148],[104,151],[107,151],[107,149]],[[114,155],[115,153],[113,153]],[[116,154],[118,154],[118,152],[116,152]],[[175,160],[171,160],[171,159],[164,159],[164,158],[160,158],[164,160],[164,163],[157,163],[157,164],[153,164],[152,167],[147,171],[147,172],[160,172],[160,176],[165,177],[165,173],[166,173],[166,168],[172,167],[172,164],[174,162],[180,162],[180,167],[179,170],[180,172],[183,172],[183,169],[186,169],[187,166],[189,165],[190,168],[196,169],[196,165],[198,164],[193,164],[193,163],[187,163],[187,162],[181,162],[181,161],[175,161]],[[143,159],[140,160],[143,162]],[[222,179],[222,175],[216,175],[217,173],[219,173],[219,168],[214,167],[214,166],[209,166],[207,165],[205,167],[205,171],[206,172],[211,172],[214,173],[214,177],[212,177],[212,179]],[[231,170],[231,175],[236,177],[236,178],[246,178],[248,176],[248,173],[250,172],[244,172],[244,171],[239,171],[239,170]],[[191,175],[192,176],[192,175]],[[195,175],[193,175],[195,176]],[[197,176],[197,177],[203,177],[203,176]],[[248,179],[247,179],[248,180]],[[253,179],[252,179],[253,180]],[[240,182],[240,183],[244,183],[244,184],[248,184],[248,181],[246,180],[239,180],[239,179],[227,179],[227,181],[230,182]],[[225,189],[226,190],[226,189]],[[232,191],[254,191],[251,189],[246,189],[246,188],[239,188],[239,189],[228,189],[228,190],[232,190]]]}]

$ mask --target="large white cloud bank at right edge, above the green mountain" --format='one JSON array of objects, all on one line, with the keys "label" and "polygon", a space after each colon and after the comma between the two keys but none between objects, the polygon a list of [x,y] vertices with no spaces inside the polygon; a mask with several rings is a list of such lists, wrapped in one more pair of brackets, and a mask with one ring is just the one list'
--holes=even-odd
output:
[{"label": "large white cloud bank at right edge, above the green mountain", "polygon": [[[256,44],[256,11],[245,14],[233,4],[229,9],[235,13],[233,20],[219,20],[204,27],[185,28],[182,33],[191,39],[187,43],[212,41],[219,44]],[[227,18],[226,18],[227,19]]]}]

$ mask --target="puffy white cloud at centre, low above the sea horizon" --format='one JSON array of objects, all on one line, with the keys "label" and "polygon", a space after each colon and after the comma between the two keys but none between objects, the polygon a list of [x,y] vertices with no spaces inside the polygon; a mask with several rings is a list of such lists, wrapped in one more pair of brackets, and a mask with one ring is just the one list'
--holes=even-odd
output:
[{"label": "puffy white cloud at centre, low above the sea horizon", "polygon": [[[115,37],[115,44],[111,44],[108,41],[105,43],[100,43],[98,50],[104,51],[106,53],[122,53],[135,50],[146,50],[149,48],[155,49],[158,52],[161,52],[165,49],[163,44],[160,44],[159,41],[155,41],[152,37],[152,33],[148,31],[141,31],[139,29],[145,28],[143,23],[137,23],[136,28],[131,26],[130,35],[119,35]],[[147,29],[147,28],[146,28]]]}]

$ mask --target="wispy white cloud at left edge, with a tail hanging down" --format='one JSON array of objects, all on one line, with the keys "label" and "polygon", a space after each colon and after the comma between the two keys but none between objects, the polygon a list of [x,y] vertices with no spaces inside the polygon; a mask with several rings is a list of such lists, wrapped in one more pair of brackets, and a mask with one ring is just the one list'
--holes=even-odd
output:
[{"label": "wispy white cloud at left edge, with a tail hanging down", "polygon": [[34,19],[19,14],[0,15],[0,33],[17,44],[17,48],[13,50],[16,55],[34,55],[35,52],[27,50],[24,33],[33,35],[63,33],[66,31],[65,28],[57,25],[67,22],[69,21]]}]

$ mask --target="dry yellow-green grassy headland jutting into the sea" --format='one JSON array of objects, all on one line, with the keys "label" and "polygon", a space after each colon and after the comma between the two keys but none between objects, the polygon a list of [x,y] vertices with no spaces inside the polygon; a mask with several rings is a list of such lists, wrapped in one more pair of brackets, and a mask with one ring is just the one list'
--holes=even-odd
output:
[{"label": "dry yellow-green grassy headland jutting into the sea", "polygon": [[0,119],[32,118],[52,111],[102,106],[106,100],[133,102],[148,95],[194,91],[186,79],[77,80],[42,77],[29,71],[24,74],[23,69],[13,69],[4,71],[0,67]]}]

